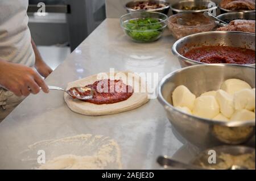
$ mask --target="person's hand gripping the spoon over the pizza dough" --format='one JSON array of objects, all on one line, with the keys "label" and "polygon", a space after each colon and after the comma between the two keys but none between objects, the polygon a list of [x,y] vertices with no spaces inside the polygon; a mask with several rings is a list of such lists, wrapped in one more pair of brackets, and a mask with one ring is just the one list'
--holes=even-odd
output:
[{"label": "person's hand gripping the spoon over the pizza dough", "polygon": [[0,85],[16,96],[38,94],[40,87],[46,93],[48,86],[32,68],[0,60]]}]

